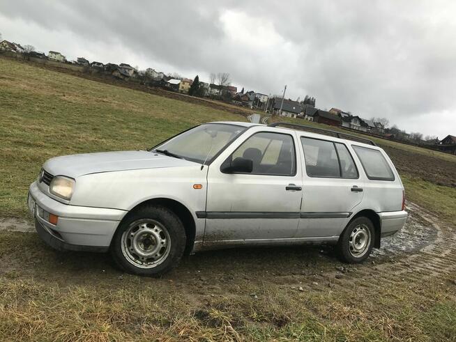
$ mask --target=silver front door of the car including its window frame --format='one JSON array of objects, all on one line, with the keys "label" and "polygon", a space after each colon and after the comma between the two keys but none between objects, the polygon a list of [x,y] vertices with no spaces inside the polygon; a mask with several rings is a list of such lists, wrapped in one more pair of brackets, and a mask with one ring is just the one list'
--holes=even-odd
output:
[{"label": "silver front door of the car including its window frame", "polygon": [[[261,128],[248,130],[209,166],[204,244],[271,242],[296,233],[303,186],[296,135]],[[252,160],[252,173],[220,171],[236,157]]]}]

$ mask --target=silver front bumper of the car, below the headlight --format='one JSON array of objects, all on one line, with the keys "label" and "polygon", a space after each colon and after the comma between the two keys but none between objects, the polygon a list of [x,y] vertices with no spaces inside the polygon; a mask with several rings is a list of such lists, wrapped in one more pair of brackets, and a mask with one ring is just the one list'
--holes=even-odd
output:
[{"label": "silver front bumper of the car, below the headlight", "polygon": [[[126,215],[125,210],[60,203],[43,194],[36,182],[31,184],[29,196],[36,203],[32,215],[38,235],[59,250],[107,251],[119,222]],[[40,217],[38,207],[57,215],[57,224]]]}]

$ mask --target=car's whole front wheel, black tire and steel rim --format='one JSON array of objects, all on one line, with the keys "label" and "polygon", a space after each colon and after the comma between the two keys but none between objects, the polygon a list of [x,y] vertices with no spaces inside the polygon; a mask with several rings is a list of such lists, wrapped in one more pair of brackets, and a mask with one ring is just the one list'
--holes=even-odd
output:
[{"label": "car's whole front wheel, black tire and steel rim", "polygon": [[146,205],[121,221],[110,251],[122,270],[158,277],[181,261],[185,240],[183,223],[172,210]]}]

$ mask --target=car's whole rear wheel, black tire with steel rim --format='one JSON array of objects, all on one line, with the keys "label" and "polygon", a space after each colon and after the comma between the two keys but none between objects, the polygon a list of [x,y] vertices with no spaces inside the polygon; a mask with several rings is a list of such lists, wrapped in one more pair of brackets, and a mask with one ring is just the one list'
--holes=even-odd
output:
[{"label": "car's whole rear wheel, black tire with steel rim", "polygon": [[339,257],[345,263],[362,263],[372,251],[375,229],[367,217],[357,217],[349,223],[337,242]]}]

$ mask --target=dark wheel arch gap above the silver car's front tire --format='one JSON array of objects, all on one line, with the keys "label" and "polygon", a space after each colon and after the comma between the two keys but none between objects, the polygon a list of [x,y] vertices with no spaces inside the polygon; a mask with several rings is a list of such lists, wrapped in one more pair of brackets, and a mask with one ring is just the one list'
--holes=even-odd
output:
[{"label": "dark wheel arch gap above the silver car's front tire", "polygon": [[[183,203],[176,201],[175,199],[168,199],[165,197],[159,197],[155,199],[147,199],[140,203],[137,203],[133,208],[131,208],[128,213],[123,217],[126,219],[130,215],[130,213],[135,212],[139,208],[142,208],[146,205],[161,205],[162,207],[168,208],[172,210],[174,214],[181,219],[183,227],[185,229],[185,254],[190,254],[193,249],[193,245],[195,244],[195,235],[196,235],[196,223],[195,218],[193,217],[192,213],[188,208],[183,205]],[[122,220],[123,220],[122,219]]]}]

